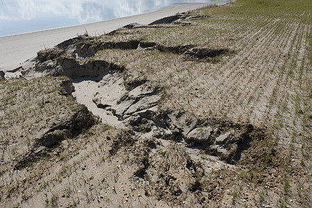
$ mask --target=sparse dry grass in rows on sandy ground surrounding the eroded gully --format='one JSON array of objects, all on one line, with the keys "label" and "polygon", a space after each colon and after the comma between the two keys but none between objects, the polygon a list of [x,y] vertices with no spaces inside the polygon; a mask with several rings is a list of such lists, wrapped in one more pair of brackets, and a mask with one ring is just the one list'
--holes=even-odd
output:
[{"label": "sparse dry grass in rows on sandy ground surrounding the eroded gully", "polygon": [[1,205],[309,207],[311,8],[309,0],[238,0],[189,12],[209,17],[189,20],[188,26],[123,29],[87,42],[96,47],[143,40],[167,48],[191,44],[231,51],[198,60],[170,50],[105,49],[87,59],[125,67],[125,85],[148,80],[146,85],[161,87],[163,112],[251,123],[265,131],[232,168],[215,169],[202,152],[192,156],[200,157],[193,163],[191,148],[148,138],[157,147],[149,148],[131,131],[101,124],[62,141],[33,166],[14,170],[10,166],[28,151],[38,130],[78,104],[58,93],[64,78],[0,81]]}]

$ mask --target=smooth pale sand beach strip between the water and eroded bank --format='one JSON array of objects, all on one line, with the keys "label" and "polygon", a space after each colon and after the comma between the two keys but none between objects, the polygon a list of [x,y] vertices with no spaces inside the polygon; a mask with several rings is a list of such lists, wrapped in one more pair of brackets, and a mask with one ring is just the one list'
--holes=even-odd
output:
[{"label": "smooth pale sand beach strip between the water and eroded bank", "polygon": [[116,28],[130,23],[149,24],[156,19],[175,15],[177,12],[194,10],[206,6],[207,4],[209,3],[186,3],[119,19],[110,19],[107,21],[65,28],[55,28],[47,31],[3,36],[0,37],[0,70],[10,71],[16,69],[24,61],[35,57],[37,51],[52,48],[55,44],[76,37],[77,35],[83,35],[85,33],[89,35],[103,35],[104,33],[109,33]]}]

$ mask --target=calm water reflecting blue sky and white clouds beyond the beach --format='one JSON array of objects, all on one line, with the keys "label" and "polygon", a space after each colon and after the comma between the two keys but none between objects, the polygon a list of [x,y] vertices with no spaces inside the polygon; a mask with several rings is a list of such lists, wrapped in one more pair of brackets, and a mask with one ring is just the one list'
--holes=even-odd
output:
[{"label": "calm water reflecting blue sky and white clouds beyond the beach", "polygon": [[0,0],[0,36],[127,17],[180,3],[228,0]]}]

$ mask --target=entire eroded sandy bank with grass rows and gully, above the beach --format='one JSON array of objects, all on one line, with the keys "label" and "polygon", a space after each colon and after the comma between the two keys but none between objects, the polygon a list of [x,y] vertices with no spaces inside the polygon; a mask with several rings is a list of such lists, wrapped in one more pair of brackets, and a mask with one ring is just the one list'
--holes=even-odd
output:
[{"label": "entire eroded sandy bank with grass rows and gully, above the beach", "polygon": [[311,10],[254,2],[79,36],[0,80],[1,207],[311,207]]}]

